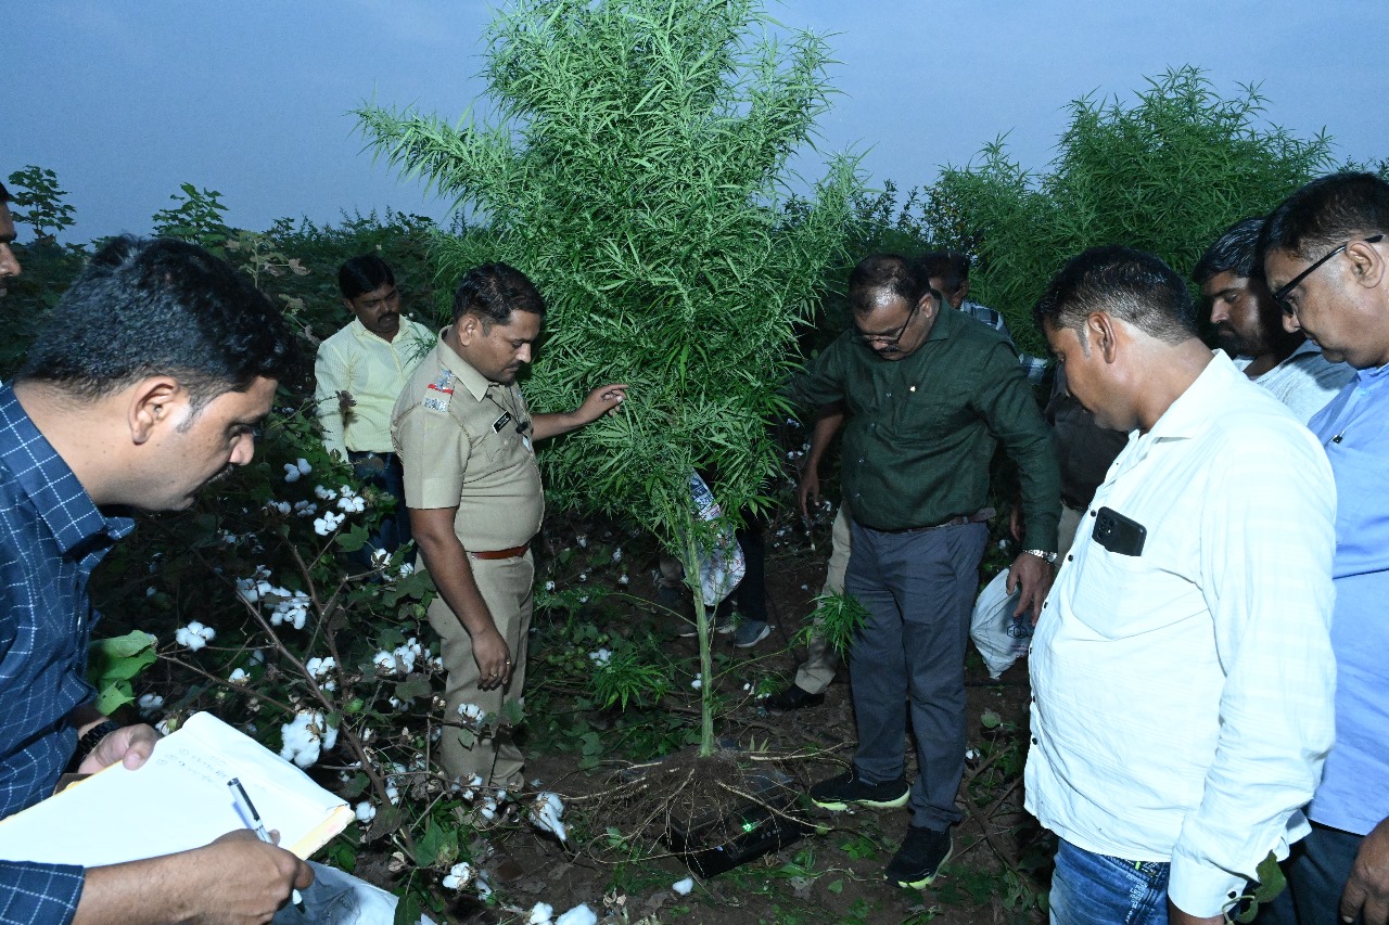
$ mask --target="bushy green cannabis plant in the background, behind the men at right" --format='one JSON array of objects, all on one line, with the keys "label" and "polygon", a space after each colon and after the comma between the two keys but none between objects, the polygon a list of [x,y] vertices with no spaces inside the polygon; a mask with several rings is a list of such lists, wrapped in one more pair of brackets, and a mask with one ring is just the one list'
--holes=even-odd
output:
[{"label": "bushy green cannabis plant in the background, behind the men at right", "polygon": [[1222,97],[1195,67],[1149,79],[1132,104],[1082,97],[1046,171],[1025,169],[1000,138],[976,167],[942,174],[926,212],[946,232],[940,243],[978,258],[978,297],[1038,353],[1029,312],[1070,257],[1131,244],[1188,274],[1226,226],[1332,165],[1329,138],[1267,125],[1263,104],[1251,86]]}]

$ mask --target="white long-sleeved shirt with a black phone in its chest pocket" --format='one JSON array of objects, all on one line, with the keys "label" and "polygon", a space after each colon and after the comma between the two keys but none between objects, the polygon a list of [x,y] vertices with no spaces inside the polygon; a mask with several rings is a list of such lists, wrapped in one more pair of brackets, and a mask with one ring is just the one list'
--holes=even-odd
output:
[{"label": "white long-sleeved shirt with a black phone in its chest pocket", "polygon": [[[1140,556],[1093,539],[1101,507],[1147,528]],[[1042,610],[1026,807],[1085,850],[1171,861],[1192,915],[1307,832],[1332,744],[1335,510],[1313,435],[1217,353],[1129,435]]]}]

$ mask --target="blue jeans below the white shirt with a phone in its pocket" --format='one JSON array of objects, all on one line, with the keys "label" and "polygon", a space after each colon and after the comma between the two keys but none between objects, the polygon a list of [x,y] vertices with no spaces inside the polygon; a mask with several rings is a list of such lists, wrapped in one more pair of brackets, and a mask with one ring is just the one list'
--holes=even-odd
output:
[{"label": "blue jeans below the white shirt with a phone in its pocket", "polygon": [[1165,861],[1125,861],[1061,840],[1051,925],[1167,925]]}]

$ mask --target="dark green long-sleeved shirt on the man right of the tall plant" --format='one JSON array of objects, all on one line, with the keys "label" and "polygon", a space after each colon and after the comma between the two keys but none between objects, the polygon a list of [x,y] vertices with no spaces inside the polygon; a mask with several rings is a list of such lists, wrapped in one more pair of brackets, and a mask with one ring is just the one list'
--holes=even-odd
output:
[{"label": "dark green long-sleeved shirt on the man right of the tall plant", "polygon": [[1051,433],[1013,344],[958,311],[925,343],[882,360],[845,332],[790,383],[796,401],[843,399],[843,490],[854,519],[879,531],[942,524],[989,503],[999,443],[1022,483],[1025,549],[1056,550],[1060,474]]}]

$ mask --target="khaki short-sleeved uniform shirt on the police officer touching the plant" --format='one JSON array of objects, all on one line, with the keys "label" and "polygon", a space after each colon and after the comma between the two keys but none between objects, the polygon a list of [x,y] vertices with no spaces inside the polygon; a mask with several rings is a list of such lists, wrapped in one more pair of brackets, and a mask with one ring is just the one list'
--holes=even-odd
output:
[{"label": "khaki short-sleeved uniform shirt on the police officer touching the plant", "polygon": [[457,504],[453,529],[465,550],[511,549],[540,531],[544,489],[515,385],[489,382],[440,339],[400,393],[390,435],[406,504]]}]

